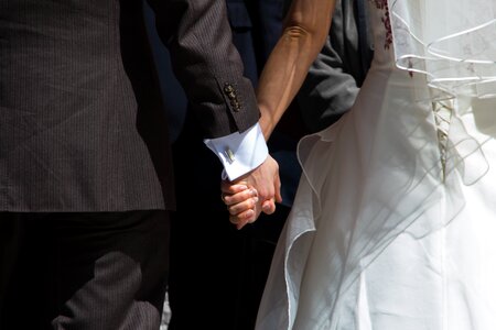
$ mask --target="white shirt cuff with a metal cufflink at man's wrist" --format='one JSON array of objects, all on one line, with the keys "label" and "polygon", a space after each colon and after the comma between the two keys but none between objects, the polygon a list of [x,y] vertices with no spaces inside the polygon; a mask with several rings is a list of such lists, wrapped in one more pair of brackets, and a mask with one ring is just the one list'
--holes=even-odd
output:
[{"label": "white shirt cuff with a metal cufflink at man's wrist", "polygon": [[205,139],[204,142],[223,163],[223,179],[234,180],[257,168],[269,154],[258,123],[244,133],[235,132],[217,139]]}]

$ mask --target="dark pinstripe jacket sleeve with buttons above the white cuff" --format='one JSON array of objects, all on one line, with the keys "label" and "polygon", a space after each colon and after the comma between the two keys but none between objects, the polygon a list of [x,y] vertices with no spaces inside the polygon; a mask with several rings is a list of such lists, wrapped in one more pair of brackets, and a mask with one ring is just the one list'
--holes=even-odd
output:
[{"label": "dark pinstripe jacket sleeve with buttons above the white cuff", "polygon": [[205,138],[246,131],[257,123],[254,88],[242,76],[231,42],[225,1],[149,0],[174,73],[186,91]]}]

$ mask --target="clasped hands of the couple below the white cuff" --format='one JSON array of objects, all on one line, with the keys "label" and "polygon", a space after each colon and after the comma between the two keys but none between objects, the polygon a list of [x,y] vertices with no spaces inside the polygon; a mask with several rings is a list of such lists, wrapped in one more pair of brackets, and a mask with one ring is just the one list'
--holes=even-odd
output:
[{"label": "clasped hands of the couple below the white cuff", "polygon": [[229,221],[241,229],[252,223],[261,212],[271,215],[276,202],[281,202],[279,165],[270,156],[257,168],[233,180],[220,184],[222,199],[229,211]]}]

